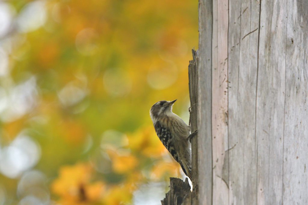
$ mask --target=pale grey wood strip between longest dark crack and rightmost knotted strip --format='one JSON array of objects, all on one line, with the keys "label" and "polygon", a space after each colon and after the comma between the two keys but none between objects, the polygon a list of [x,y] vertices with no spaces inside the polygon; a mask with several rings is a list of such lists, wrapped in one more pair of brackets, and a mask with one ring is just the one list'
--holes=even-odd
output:
[{"label": "pale grey wood strip between longest dark crack and rightmost knotted strip", "polygon": [[257,84],[257,203],[282,204],[286,0],[261,4]]}]

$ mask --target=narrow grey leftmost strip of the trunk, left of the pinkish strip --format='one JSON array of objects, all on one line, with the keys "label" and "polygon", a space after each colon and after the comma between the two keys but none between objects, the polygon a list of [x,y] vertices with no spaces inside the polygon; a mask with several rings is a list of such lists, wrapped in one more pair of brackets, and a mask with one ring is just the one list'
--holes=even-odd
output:
[{"label": "narrow grey leftmost strip of the trunk, left of the pinkish strip", "polygon": [[212,31],[213,2],[200,0],[198,58],[199,204],[212,204]]}]

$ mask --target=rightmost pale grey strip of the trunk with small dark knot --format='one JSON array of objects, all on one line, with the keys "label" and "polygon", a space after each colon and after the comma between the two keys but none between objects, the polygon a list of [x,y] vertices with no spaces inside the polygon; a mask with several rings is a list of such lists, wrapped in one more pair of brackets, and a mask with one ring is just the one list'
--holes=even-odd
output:
[{"label": "rightmost pale grey strip of the trunk with small dark knot", "polygon": [[282,202],[308,204],[308,1],[286,4]]}]

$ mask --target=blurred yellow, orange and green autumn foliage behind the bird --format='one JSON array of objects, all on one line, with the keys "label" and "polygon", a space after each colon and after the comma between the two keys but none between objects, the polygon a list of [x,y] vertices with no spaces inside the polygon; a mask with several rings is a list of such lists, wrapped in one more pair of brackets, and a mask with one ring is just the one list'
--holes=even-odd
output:
[{"label": "blurred yellow, orange and green autumn foliage behind the bird", "polygon": [[188,123],[197,19],[197,0],[1,1],[0,205],[160,204],[184,174],[149,109],[178,99]]}]

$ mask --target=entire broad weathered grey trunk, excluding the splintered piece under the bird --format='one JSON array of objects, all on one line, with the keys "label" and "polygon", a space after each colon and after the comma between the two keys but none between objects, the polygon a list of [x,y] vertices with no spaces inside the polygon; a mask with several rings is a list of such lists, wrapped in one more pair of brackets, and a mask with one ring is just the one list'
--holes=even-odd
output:
[{"label": "entire broad weathered grey trunk, excluding the splintered piece under the bird", "polygon": [[199,204],[308,204],[308,1],[227,3],[199,1]]}]

